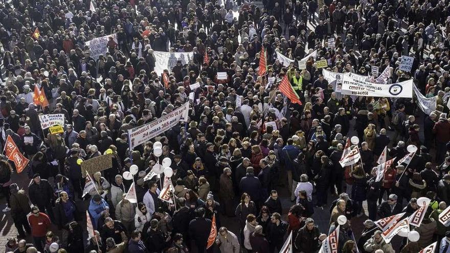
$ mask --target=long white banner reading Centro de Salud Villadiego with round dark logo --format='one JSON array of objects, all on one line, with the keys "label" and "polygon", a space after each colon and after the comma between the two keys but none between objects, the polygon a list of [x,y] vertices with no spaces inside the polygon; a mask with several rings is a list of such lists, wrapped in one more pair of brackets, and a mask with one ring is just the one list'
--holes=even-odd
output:
[{"label": "long white banner reading Centro de Salud Villadiego with round dark logo", "polygon": [[365,97],[412,98],[413,80],[394,84],[376,84],[344,75],[341,93]]}]

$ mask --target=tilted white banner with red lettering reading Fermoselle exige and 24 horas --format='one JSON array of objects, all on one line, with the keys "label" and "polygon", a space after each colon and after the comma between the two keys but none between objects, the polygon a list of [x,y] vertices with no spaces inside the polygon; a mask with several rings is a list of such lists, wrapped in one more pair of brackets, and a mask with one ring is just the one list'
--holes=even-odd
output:
[{"label": "tilted white banner with red lettering reading Fermoselle exige and 24 horas", "polygon": [[173,110],[165,116],[147,123],[143,126],[138,126],[128,130],[128,138],[130,141],[130,148],[137,147],[155,136],[169,130],[176,126],[179,122],[186,122],[189,114],[189,102],[181,107]]}]

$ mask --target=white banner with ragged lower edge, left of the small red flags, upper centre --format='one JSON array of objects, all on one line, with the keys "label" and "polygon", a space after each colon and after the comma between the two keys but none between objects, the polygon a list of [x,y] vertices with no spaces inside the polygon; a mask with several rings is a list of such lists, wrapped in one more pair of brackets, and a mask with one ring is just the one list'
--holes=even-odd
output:
[{"label": "white banner with ragged lower edge, left of the small red flags, upper centre", "polygon": [[193,59],[194,53],[153,51],[153,56],[156,60],[154,71],[156,74],[161,75],[164,70],[172,72],[172,68],[176,66],[177,61],[181,61],[182,65],[188,64],[189,60]]}]

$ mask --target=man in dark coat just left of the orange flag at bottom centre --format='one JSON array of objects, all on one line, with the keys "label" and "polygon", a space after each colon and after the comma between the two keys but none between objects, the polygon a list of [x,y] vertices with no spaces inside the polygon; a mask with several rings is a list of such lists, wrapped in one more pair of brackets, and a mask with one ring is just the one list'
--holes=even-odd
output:
[{"label": "man in dark coat just left of the orange flag at bottom centre", "polygon": [[204,252],[211,232],[211,220],[205,218],[204,208],[197,209],[196,213],[197,218],[189,223],[189,237],[197,246],[196,252]]}]

